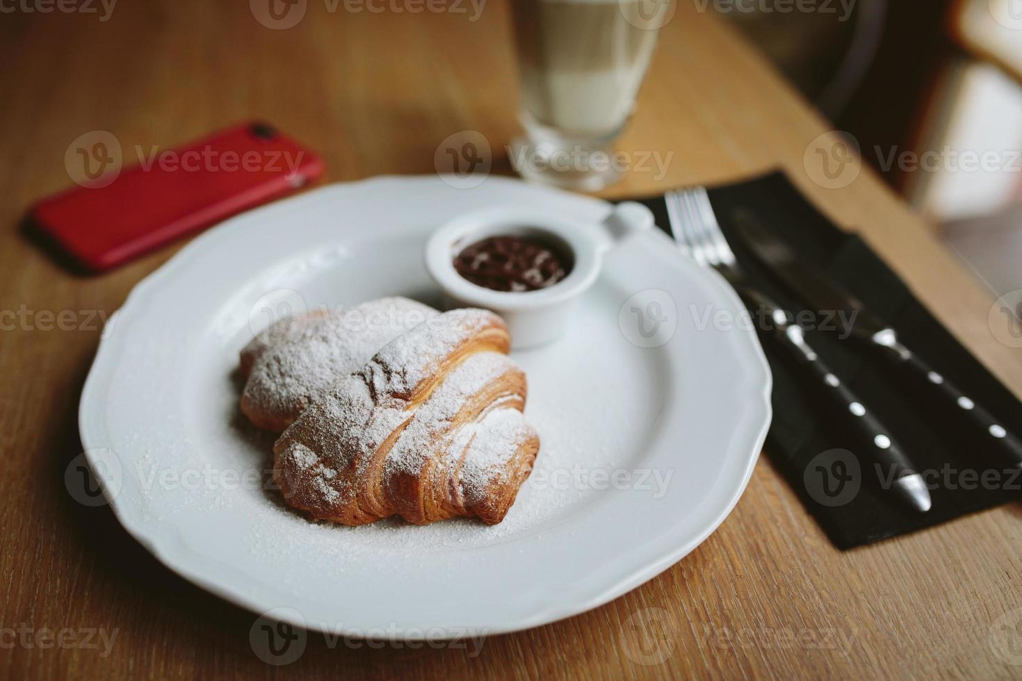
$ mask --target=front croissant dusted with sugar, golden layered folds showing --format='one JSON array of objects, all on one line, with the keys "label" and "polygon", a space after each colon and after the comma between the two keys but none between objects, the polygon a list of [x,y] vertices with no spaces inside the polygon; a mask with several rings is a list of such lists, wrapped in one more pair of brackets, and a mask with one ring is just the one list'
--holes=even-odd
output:
[{"label": "front croissant dusted with sugar, golden layered folds showing", "polygon": [[540,448],[525,375],[496,314],[445,312],[398,336],[274,445],[274,478],[313,518],[500,523]]}]

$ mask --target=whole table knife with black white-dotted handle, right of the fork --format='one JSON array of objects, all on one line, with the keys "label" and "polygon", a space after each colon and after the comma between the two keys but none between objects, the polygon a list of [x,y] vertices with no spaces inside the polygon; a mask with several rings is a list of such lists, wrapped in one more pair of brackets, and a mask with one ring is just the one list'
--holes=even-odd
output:
[{"label": "whole table knife with black white-dotted handle, right of the fork", "polygon": [[787,288],[817,309],[834,310],[854,317],[851,336],[878,350],[907,375],[917,379],[962,419],[983,434],[1013,466],[1022,468],[1022,440],[981,404],[970,398],[926,360],[905,347],[897,332],[873,314],[855,296],[835,284],[805,261],[784,241],[747,210],[732,213],[735,228],[752,253]]}]

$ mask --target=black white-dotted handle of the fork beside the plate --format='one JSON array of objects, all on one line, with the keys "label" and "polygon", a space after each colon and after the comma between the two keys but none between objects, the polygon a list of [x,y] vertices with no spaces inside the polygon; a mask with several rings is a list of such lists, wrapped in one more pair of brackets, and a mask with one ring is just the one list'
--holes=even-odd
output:
[{"label": "black white-dotted handle of the fork beside the plate", "polygon": [[890,436],[890,431],[872,411],[866,408],[863,400],[846,386],[820,358],[802,337],[802,330],[797,325],[791,325],[784,331],[778,331],[777,337],[795,350],[799,363],[806,368],[812,378],[827,396],[830,406],[836,412],[857,440],[864,451],[872,456],[882,467],[881,477],[897,480],[917,473],[912,461],[901,447]]}]

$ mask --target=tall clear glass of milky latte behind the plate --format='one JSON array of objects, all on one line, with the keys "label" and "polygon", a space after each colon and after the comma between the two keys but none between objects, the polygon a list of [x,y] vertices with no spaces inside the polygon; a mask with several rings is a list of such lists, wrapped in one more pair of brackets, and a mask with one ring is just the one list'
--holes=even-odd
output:
[{"label": "tall clear glass of milky latte behind the plate", "polygon": [[613,143],[635,108],[670,0],[511,0],[523,177],[595,191],[614,182]]}]

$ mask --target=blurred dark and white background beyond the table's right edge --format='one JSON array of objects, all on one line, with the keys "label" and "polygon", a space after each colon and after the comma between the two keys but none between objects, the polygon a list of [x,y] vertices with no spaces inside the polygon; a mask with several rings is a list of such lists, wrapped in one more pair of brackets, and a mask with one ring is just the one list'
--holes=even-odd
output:
[{"label": "blurred dark and white background beyond the table's right edge", "polygon": [[1022,288],[1022,1],[710,2],[993,292]]}]

